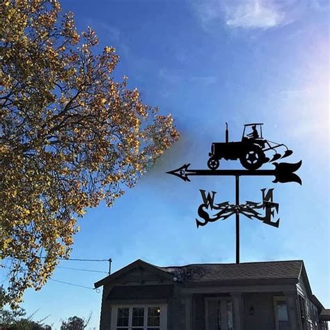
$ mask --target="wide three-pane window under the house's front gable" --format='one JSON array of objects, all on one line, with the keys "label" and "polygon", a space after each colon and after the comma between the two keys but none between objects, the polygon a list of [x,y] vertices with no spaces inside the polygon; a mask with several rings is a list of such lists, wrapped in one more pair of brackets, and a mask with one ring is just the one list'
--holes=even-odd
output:
[{"label": "wide three-pane window under the house's front gable", "polygon": [[111,330],[166,330],[166,305],[113,306]]}]

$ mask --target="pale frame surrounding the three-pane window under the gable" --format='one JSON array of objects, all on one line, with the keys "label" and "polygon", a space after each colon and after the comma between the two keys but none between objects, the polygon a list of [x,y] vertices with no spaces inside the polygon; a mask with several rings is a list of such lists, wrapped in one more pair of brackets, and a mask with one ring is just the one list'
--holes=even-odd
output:
[{"label": "pale frame surrounding the three-pane window under the gable", "polygon": [[[143,327],[139,326],[132,326],[132,319],[133,319],[133,308],[144,308],[144,318],[143,318]],[[160,308],[160,320],[159,320],[159,327],[148,326],[148,307],[159,307]],[[128,313],[128,326],[120,326],[117,327],[117,316],[118,316],[118,308],[129,308]],[[147,330],[148,328],[156,328],[157,330],[166,330],[167,329],[167,304],[113,304],[111,305],[111,330],[117,329],[128,329],[132,330],[132,328]]]}]

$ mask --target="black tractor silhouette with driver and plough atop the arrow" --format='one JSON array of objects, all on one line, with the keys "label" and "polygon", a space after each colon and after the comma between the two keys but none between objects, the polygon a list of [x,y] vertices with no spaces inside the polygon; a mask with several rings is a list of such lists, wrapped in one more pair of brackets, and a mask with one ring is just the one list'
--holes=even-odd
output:
[{"label": "black tractor silhouette with driver and plough atop the arrow", "polygon": [[[277,159],[292,155],[292,150],[289,150],[283,143],[278,144],[262,137],[262,123],[252,123],[244,125],[242,141],[228,141],[228,124],[226,123],[226,142],[214,142],[209,153],[210,159],[207,161],[207,166],[211,170],[216,170],[219,167],[220,159],[237,160],[242,166],[250,171],[254,171],[267,162],[275,162]],[[248,127],[251,127],[252,132],[246,134]],[[286,148],[283,155],[275,149]],[[266,152],[275,152],[272,159],[266,156]]]}]

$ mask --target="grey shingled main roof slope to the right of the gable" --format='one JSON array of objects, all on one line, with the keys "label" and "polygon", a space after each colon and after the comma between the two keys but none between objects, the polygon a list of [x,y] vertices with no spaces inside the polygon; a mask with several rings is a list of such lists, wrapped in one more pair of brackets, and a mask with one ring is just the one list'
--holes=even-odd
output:
[{"label": "grey shingled main roof slope to the right of the gable", "polygon": [[173,274],[177,281],[210,282],[299,278],[302,260],[242,262],[240,264],[196,264],[180,267],[157,267]]}]

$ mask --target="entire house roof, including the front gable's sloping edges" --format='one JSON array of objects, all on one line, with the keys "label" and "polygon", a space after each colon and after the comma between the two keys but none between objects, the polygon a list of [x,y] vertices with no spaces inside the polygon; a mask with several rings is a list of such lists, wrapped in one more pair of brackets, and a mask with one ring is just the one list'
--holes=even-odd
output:
[{"label": "entire house roof, including the front gable's sloping edges", "polygon": [[121,274],[135,267],[144,267],[152,272],[171,279],[175,282],[206,283],[213,281],[237,280],[298,280],[301,269],[304,268],[302,260],[270,261],[270,262],[242,262],[240,264],[194,264],[185,266],[159,267],[143,260],[136,260],[126,267],[118,270],[95,283],[95,288],[104,285]]}]

